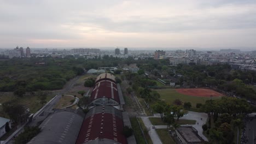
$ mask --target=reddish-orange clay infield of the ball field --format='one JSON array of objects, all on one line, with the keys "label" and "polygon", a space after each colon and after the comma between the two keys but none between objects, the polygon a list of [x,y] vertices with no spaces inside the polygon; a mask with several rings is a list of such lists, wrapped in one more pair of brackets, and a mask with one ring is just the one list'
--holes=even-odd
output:
[{"label": "reddish-orange clay infield of the ball field", "polygon": [[196,97],[211,97],[211,95],[212,97],[219,97],[223,95],[207,88],[178,88],[176,89],[176,91],[178,93],[192,95]]}]

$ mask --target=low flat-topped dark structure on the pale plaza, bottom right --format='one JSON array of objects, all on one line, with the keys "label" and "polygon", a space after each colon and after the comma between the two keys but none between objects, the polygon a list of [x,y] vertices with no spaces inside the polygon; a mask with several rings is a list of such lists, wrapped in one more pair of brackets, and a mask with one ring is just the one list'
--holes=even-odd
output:
[{"label": "low flat-topped dark structure on the pale plaza, bottom right", "polygon": [[198,135],[198,131],[193,127],[179,127],[176,129],[178,140],[184,144],[199,144],[204,140]]}]

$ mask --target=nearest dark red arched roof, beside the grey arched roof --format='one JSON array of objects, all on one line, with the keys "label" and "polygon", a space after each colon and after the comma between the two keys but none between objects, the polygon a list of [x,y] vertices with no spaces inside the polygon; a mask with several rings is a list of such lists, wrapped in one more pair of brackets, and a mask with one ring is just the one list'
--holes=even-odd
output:
[{"label": "nearest dark red arched roof, beside the grey arched roof", "polygon": [[126,138],[122,134],[123,127],[123,120],[114,113],[96,113],[84,119],[76,144],[97,139],[109,139],[126,144]]}]

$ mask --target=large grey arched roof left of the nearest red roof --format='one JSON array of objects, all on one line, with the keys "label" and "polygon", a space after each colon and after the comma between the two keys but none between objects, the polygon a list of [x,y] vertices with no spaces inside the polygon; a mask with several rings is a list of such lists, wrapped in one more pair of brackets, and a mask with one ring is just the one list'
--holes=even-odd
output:
[{"label": "large grey arched roof left of the nearest red roof", "polygon": [[81,110],[60,110],[48,116],[40,128],[42,131],[28,144],[75,143],[83,123]]}]

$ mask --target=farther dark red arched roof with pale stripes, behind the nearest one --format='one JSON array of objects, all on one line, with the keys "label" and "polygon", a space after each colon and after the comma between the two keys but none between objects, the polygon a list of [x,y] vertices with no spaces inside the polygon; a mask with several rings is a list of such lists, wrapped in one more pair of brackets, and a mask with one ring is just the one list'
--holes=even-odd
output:
[{"label": "farther dark red arched roof with pale stripes, behind the nearest one", "polygon": [[92,90],[90,99],[93,101],[99,98],[110,98],[120,103],[117,85],[109,80],[103,80],[96,83]]}]

